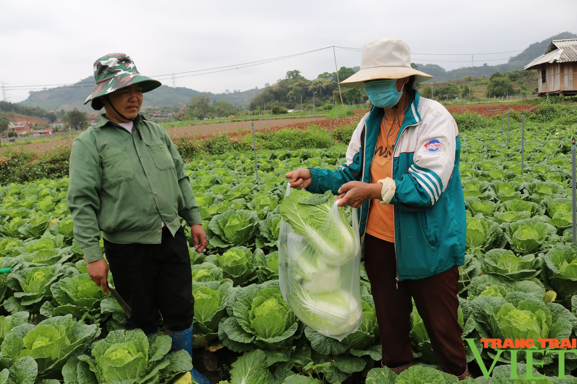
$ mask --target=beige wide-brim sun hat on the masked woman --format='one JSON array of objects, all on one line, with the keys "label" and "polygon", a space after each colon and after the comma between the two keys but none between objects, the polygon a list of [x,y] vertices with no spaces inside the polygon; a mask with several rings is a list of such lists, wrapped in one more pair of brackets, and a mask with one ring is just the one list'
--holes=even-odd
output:
[{"label": "beige wide-brim sun hat on the masked woman", "polygon": [[361,70],[339,84],[347,88],[365,86],[365,81],[415,76],[415,82],[433,78],[411,67],[409,44],[398,39],[377,39],[366,43],[361,52]]}]

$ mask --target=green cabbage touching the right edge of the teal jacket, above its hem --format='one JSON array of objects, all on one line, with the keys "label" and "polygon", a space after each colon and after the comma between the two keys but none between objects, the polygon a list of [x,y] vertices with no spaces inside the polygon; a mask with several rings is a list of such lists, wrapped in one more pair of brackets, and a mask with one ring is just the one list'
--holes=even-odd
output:
[{"label": "green cabbage touching the right edge of the teal jacket, above its hem", "polygon": [[493,248],[502,247],[507,240],[499,224],[485,219],[481,214],[467,217],[467,234],[465,244],[467,253],[478,254]]}]

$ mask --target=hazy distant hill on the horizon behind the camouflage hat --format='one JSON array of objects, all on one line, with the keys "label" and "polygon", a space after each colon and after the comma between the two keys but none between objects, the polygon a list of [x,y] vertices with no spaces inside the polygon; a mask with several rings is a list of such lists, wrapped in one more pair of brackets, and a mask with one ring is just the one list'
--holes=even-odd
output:
[{"label": "hazy distant hill on the horizon behind the camouflage hat", "polygon": [[[84,78],[73,85],[61,86],[42,91],[30,92],[28,99],[18,104],[23,106],[38,106],[48,111],[72,110],[78,108],[81,111],[92,111],[90,104],[83,105],[84,100],[94,86],[92,76]],[[201,93],[208,95],[211,102],[214,100],[226,100],[235,106],[245,106],[250,100],[263,92],[263,89],[249,89],[244,92],[211,93],[200,92],[194,89],[177,86],[173,88],[168,85],[161,85],[159,88],[146,93],[143,102],[143,109],[152,107],[182,106],[190,102],[190,97],[198,96]]]}]

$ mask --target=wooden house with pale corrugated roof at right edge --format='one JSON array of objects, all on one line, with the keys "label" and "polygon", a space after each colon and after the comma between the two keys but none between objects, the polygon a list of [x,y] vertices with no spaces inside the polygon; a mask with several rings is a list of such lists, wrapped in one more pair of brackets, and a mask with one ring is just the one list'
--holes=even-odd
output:
[{"label": "wooden house with pale corrugated roof at right edge", "polygon": [[525,66],[537,69],[539,96],[577,95],[577,39],[552,40],[545,54]]}]

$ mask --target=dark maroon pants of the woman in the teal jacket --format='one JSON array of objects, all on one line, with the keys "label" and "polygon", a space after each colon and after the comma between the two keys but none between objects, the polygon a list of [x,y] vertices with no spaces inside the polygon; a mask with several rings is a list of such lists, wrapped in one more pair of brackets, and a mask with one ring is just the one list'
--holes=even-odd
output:
[{"label": "dark maroon pants of the woman in the teal jacket", "polygon": [[461,339],[463,329],[457,317],[457,267],[397,284],[395,244],[366,234],[365,268],[377,310],[383,365],[396,368],[413,360],[409,336],[413,296],[441,368],[449,374],[462,375],[467,360]]}]

